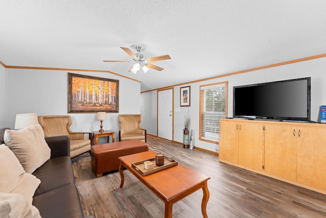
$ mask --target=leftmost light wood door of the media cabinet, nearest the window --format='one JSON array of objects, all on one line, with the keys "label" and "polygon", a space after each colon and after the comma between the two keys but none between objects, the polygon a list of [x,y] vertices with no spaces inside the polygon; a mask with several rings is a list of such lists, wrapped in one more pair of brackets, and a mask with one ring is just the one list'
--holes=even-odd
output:
[{"label": "leftmost light wood door of the media cabinet, nearest the window", "polygon": [[220,120],[219,160],[238,163],[237,122]]}]

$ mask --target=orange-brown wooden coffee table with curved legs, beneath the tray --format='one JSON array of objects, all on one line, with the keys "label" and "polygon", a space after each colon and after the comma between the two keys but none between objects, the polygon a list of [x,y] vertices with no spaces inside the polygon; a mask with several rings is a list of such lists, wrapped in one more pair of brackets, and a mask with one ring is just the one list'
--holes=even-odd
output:
[{"label": "orange-brown wooden coffee table with curved legs, beneath the tray", "polygon": [[125,167],[165,203],[165,217],[172,217],[174,203],[202,188],[204,193],[202,213],[203,217],[207,217],[206,205],[209,199],[207,180],[210,178],[180,163],[147,176],[142,176],[131,166],[133,162],[154,158],[155,154],[155,152],[148,151],[119,157],[120,188],[124,183],[123,168]]}]

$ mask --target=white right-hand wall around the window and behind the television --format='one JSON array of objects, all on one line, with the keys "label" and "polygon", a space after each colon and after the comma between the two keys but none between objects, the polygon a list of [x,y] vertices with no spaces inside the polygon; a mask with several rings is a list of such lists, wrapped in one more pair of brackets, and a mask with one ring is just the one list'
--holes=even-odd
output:
[{"label": "white right-hand wall around the window and behind the television", "polygon": [[[296,79],[303,77],[311,77],[311,120],[320,122],[319,109],[321,105],[326,105],[326,57],[313,59],[303,62],[297,62],[277,67],[271,67],[261,70],[250,71],[244,74],[238,74],[218,79],[207,80],[198,83],[183,84],[182,86],[174,87],[174,141],[183,142],[183,118],[189,113],[191,115],[191,127],[195,131],[195,147],[215,151],[218,145],[200,141],[198,139],[199,133],[199,94],[200,85],[225,82],[228,81],[228,116],[232,117],[233,113],[233,86],[247,85],[254,83],[273,82],[279,80]],[[180,87],[191,86],[191,106],[180,107]],[[157,104],[156,91],[144,92],[142,95],[151,95],[151,104]],[[154,99],[155,96],[155,99]],[[146,105],[147,103],[146,97]],[[180,112],[175,109],[180,108]],[[154,108],[153,108],[154,110]],[[156,110],[156,107],[155,107]],[[148,114],[150,113],[150,114]],[[152,116],[154,111],[146,110],[146,126],[156,126],[156,117]],[[156,111],[155,111],[156,113]],[[155,133],[156,135],[156,133]]]}]

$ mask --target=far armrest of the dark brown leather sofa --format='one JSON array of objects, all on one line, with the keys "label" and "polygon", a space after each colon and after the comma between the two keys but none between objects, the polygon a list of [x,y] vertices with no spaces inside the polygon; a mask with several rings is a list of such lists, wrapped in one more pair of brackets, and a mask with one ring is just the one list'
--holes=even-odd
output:
[{"label": "far armrest of the dark brown leather sofa", "polygon": [[67,135],[45,137],[45,141],[51,149],[51,157],[70,156],[70,138]]}]

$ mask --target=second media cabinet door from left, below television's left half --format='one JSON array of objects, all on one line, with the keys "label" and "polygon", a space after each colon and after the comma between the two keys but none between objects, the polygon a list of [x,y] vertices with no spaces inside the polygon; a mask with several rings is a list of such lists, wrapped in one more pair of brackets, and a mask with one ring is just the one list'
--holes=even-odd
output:
[{"label": "second media cabinet door from left, below television's left half", "polygon": [[262,171],[262,124],[239,123],[239,165]]}]

